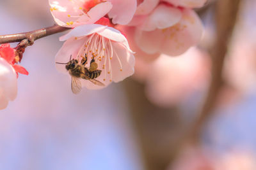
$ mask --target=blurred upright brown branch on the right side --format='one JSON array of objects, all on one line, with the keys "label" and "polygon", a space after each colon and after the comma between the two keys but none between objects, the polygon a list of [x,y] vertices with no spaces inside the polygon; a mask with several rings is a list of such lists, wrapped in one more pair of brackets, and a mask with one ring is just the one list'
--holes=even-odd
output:
[{"label": "blurred upright brown branch on the right side", "polygon": [[200,145],[200,134],[205,122],[214,113],[214,107],[221,87],[223,87],[223,65],[225,56],[228,51],[229,40],[232,36],[234,26],[236,25],[236,18],[239,11],[239,3],[241,0],[225,0],[216,1],[216,40],[211,49],[212,56],[212,77],[211,85],[207,92],[207,96],[199,111],[198,118],[188,129],[188,131],[177,140],[177,147],[172,155],[172,161],[175,160],[180,150],[187,144]]}]

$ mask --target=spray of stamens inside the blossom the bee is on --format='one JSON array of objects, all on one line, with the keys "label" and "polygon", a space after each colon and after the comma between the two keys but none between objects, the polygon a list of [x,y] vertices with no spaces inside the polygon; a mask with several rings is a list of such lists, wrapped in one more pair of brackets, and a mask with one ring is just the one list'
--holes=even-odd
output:
[{"label": "spray of stamens inside the blossom the bee is on", "polygon": [[88,39],[77,53],[77,60],[81,62],[85,55],[88,57],[86,65],[89,66],[90,60],[94,59],[99,66],[98,69],[104,70],[104,81],[107,80],[107,73],[110,76],[109,81],[112,81],[113,69],[111,66],[111,60],[113,57],[116,57],[118,60],[120,71],[122,71],[122,62],[115,52],[111,40],[104,38],[97,33],[88,36]]}]

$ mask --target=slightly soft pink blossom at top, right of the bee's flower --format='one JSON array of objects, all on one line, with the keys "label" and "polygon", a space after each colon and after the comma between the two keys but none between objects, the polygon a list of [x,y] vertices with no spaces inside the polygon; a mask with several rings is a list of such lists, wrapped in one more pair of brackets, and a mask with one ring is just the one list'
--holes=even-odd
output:
[{"label": "slightly soft pink blossom at top, right of the bee's flower", "polygon": [[148,6],[146,1],[144,2],[145,4],[139,4],[136,11],[136,14],[140,15],[135,15],[128,24],[136,27],[134,39],[143,52],[175,56],[197,45],[202,36],[203,26],[195,11],[190,8],[192,4],[195,7],[201,6],[205,0],[198,3],[193,1],[188,6],[185,4],[189,4],[189,1],[173,0],[173,3],[179,4],[160,1],[157,6],[157,1],[150,1]]}]

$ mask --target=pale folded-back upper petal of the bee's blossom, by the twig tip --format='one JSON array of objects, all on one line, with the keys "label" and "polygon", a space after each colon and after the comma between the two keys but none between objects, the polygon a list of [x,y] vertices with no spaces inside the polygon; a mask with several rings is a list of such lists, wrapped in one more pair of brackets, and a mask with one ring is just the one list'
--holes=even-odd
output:
[{"label": "pale folded-back upper petal of the bee's blossom, by the twig tip", "polygon": [[80,25],[69,31],[64,36],[60,37],[60,41],[66,41],[72,37],[80,37],[80,36],[88,36],[95,32],[102,31],[106,28],[106,25],[99,25],[99,24],[88,24],[88,25]]}]

